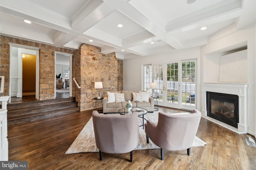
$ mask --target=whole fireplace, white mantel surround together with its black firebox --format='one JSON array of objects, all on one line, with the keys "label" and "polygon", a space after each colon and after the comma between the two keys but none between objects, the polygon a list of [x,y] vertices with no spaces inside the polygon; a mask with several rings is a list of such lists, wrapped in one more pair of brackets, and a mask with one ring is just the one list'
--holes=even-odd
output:
[{"label": "whole fireplace, white mantel surround together with its black firebox", "polygon": [[[226,127],[227,129],[230,129],[231,131],[234,131],[238,134],[245,134],[248,131],[248,125],[247,125],[247,87],[248,85],[246,83],[202,83],[202,117],[205,119],[208,119],[214,123],[217,123],[218,125],[221,125],[223,127]],[[237,127],[234,127],[233,125],[230,125],[228,122],[219,121],[216,117],[210,117],[208,115],[208,112],[211,112],[212,108],[208,110],[209,106],[207,105],[207,98],[208,98],[208,92],[214,92],[219,93],[221,95],[214,96],[214,99],[212,100],[215,105],[221,105],[224,104],[224,107],[229,108],[229,112],[233,112],[231,107],[234,107],[234,119],[231,118],[233,115],[231,113],[226,113],[227,111],[221,111],[220,113],[226,113],[225,116],[221,116],[222,119],[226,121],[226,118],[229,117],[231,121],[237,125]],[[222,99],[222,95],[230,94],[237,97],[229,98],[229,99]],[[217,101],[216,98],[217,97]],[[220,99],[218,99],[220,97]],[[231,102],[230,102],[231,100]],[[235,101],[233,101],[235,100]],[[238,104],[236,104],[236,102]],[[233,106],[234,105],[234,106]],[[238,109],[238,111],[236,111]],[[216,110],[214,107],[213,110]],[[217,108],[218,110],[218,108]],[[219,113],[216,113],[216,111],[213,111],[213,114],[210,115],[219,115]],[[238,114],[238,117],[236,117],[236,113]],[[236,117],[236,118],[235,118]],[[238,122],[237,122],[238,121]]]}]

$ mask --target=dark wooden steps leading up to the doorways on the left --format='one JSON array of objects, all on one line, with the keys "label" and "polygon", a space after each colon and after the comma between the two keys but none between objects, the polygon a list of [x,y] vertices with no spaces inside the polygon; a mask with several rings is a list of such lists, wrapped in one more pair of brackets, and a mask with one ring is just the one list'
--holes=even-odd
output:
[{"label": "dark wooden steps leading up to the doorways on the left", "polygon": [[44,100],[7,105],[7,123],[15,125],[80,111],[75,98]]}]

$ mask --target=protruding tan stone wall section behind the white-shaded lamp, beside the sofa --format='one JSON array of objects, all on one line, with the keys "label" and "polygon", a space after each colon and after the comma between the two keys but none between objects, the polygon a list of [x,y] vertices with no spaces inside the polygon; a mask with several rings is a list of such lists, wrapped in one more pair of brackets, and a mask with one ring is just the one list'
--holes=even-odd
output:
[{"label": "protruding tan stone wall section behind the white-shaded lamp, beside the sofa", "polygon": [[74,77],[81,86],[78,89],[74,84],[73,95],[81,111],[94,108],[93,98],[98,96],[94,82],[102,82],[101,97],[106,96],[107,91],[123,90],[123,61],[117,60],[115,53],[104,55],[99,47],[83,44],[72,63]]}]

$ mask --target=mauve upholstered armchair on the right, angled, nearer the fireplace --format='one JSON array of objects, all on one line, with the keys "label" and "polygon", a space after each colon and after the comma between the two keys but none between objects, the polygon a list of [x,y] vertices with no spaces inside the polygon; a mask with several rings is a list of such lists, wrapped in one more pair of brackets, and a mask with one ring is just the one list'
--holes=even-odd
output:
[{"label": "mauve upholstered armchair on the right, angled, nearer the fireplace", "polygon": [[158,123],[148,120],[145,124],[146,140],[151,141],[161,148],[161,160],[164,160],[164,149],[187,149],[190,155],[190,147],[200,123],[201,112],[194,109],[192,113],[158,113]]}]

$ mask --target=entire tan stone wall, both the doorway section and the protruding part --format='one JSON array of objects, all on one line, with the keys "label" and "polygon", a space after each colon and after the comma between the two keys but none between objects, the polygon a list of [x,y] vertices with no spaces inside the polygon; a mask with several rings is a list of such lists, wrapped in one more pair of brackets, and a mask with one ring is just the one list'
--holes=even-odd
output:
[{"label": "entire tan stone wall, both the doorway section and the protruding part", "polygon": [[104,55],[100,47],[83,44],[78,50],[64,49],[42,43],[35,43],[12,37],[0,36],[0,75],[5,76],[4,93],[9,96],[10,87],[10,45],[9,43],[40,48],[39,53],[39,100],[54,99],[55,60],[54,51],[74,54],[72,57],[72,77],[81,86],[77,88],[73,80],[72,96],[76,97],[80,110],[94,109],[98,89],[94,82],[102,82],[100,96],[106,96],[108,91],[123,90],[123,61],[117,60],[115,53]]}]

